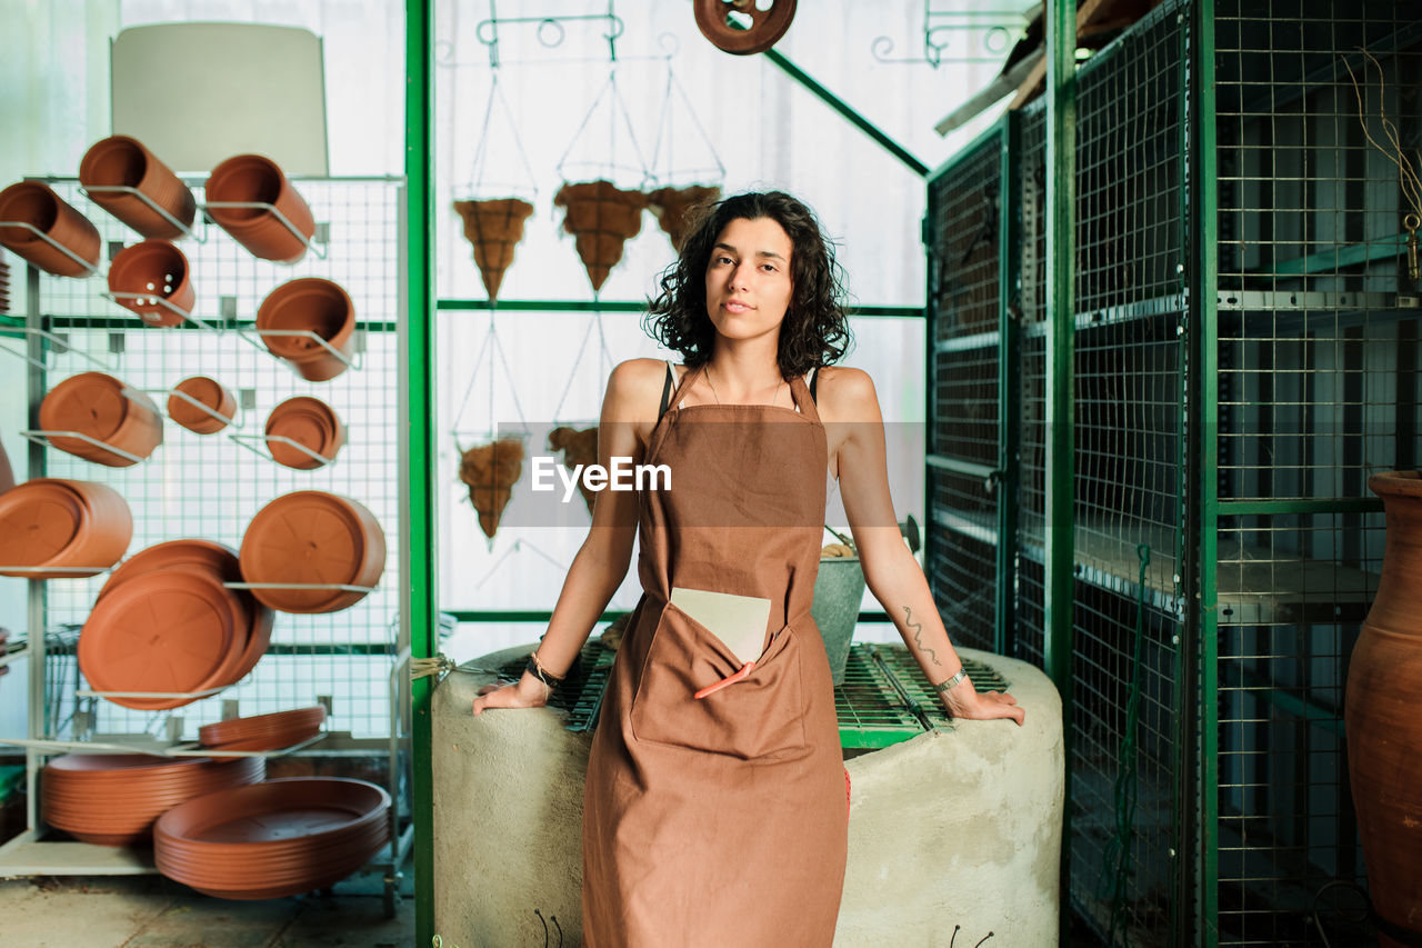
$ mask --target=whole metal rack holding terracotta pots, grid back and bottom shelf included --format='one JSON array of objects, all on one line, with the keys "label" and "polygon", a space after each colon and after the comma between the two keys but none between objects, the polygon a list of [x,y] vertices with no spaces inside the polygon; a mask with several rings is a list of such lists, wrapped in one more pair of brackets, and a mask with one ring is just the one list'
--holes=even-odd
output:
[{"label": "whole metal rack holding terracotta pots, grid back and bottom shelf included", "polygon": [[[104,262],[137,238],[102,209],[87,205],[71,178],[46,178],[100,228]],[[201,194],[201,179],[188,182]],[[102,481],[118,490],[134,514],[129,554],[165,539],[202,537],[240,547],[246,524],[270,500],[296,490],[326,490],[353,497],[381,522],[390,549],[378,586],[350,609],[328,615],[277,613],[272,646],[256,669],[218,696],[172,712],[134,712],[70,688],[51,693],[47,678],[64,666],[80,678],[73,648],[47,649],[43,629],[78,628],[105,576],[28,582],[30,733],[26,743],[28,826],[0,847],[0,874],[151,873],[151,858],[82,843],[50,841],[38,810],[44,757],[70,749],[145,750],[181,754],[203,723],[233,715],[260,715],[323,703],[323,739],[294,750],[287,771],[310,771],[303,757],[384,757],[377,780],[395,801],[388,857],[371,864],[385,875],[387,911],[394,911],[400,867],[411,827],[410,719],[405,662],[410,655],[410,606],[402,591],[410,571],[407,473],[400,450],[401,410],[390,397],[405,377],[407,305],[405,182],[402,178],[294,179],[316,212],[317,249],[293,265],[252,258],[215,225],[199,219],[201,241],[183,241],[189,279],[198,289],[196,322],[175,327],[145,325],[100,293],[94,279],[53,278],[27,272],[24,326],[7,330],[23,339],[31,428],[38,403],[53,384],[95,369],[139,390],[164,391],[191,374],[210,374],[239,400],[232,428],[198,436],[166,423],[164,444],[152,457],[125,468],[101,467],[31,441],[31,477]],[[323,276],[351,295],[357,312],[357,367],[333,381],[307,383],[253,342],[257,305],[277,285]],[[95,279],[102,279],[95,278]],[[11,354],[18,354],[11,350]],[[7,362],[11,356],[0,356]],[[294,394],[314,394],[344,421],[348,440],[336,463],[296,471],[239,441],[260,438],[266,414]],[[156,396],[165,401],[164,396]],[[159,406],[161,407],[161,406]],[[236,437],[232,437],[232,436]],[[371,776],[375,776],[374,773]]]}]

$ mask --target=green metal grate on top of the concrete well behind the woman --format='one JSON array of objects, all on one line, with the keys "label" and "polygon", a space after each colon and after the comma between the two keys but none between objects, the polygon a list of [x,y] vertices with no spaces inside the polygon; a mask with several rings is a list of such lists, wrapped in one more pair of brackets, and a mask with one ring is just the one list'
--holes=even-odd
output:
[{"label": "green metal grate on top of the concrete well behind the woman", "polygon": [[[590,732],[597,726],[616,655],[602,639],[590,639],[579,663],[553,692],[549,706],[567,713],[569,730]],[[518,680],[526,660],[509,659],[498,668],[499,676]],[[1008,682],[991,666],[974,659],[964,659],[963,666],[980,692],[1008,689]],[[926,730],[953,726],[909,651],[869,642],[849,648],[845,683],[835,688],[835,712],[843,747],[887,747]]]}]

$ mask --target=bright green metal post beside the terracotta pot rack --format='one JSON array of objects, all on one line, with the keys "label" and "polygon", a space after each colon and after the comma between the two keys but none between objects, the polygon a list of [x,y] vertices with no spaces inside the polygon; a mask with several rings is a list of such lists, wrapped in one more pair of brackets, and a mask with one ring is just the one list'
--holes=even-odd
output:
[{"label": "bright green metal post beside the terracotta pot rack", "polygon": [[[434,0],[405,0],[405,302],[401,460],[405,465],[407,612],[412,658],[437,651],[434,530]],[[431,770],[431,679],[411,686],[414,767],[411,816],[415,821],[415,944],[434,938],[434,774]]]}]

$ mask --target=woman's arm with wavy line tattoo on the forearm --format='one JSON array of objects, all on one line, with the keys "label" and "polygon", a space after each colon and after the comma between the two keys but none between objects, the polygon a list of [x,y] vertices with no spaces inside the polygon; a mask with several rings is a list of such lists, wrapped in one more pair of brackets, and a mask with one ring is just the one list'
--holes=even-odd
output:
[{"label": "woman's arm with wavy line tattoo on the forearm", "polygon": [[[889,497],[884,426],[875,383],[867,373],[843,367],[833,370],[832,384],[825,381],[820,381],[820,397],[828,403],[826,414],[843,426],[839,493],[859,548],[865,581],[893,619],[929,683],[941,685],[963,669],[963,662],[948,642],[929,581],[899,532]],[[1025,719],[1025,712],[1011,695],[980,693],[967,678],[939,696],[954,717],[1011,717],[1018,725]]]}]

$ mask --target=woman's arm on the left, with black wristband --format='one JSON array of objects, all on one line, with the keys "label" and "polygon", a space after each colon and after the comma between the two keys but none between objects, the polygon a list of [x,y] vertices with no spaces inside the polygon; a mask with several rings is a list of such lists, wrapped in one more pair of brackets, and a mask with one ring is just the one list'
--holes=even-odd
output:
[{"label": "woman's arm on the left, with black wristband", "polygon": [[[607,379],[597,426],[597,463],[604,468],[611,467],[613,457],[631,457],[634,464],[641,461],[637,413],[647,410],[653,387],[648,383],[660,383],[654,367],[648,370],[648,366],[641,364],[647,362],[650,360],[634,359],[620,363]],[[656,394],[651,397],[656,399]],[[582,495],[574,493],[573,497]],[[536,652],[539,663],[549,673],[563,675],[572,668],[597,618],[627,576],[636,535],[637,493],[599,491],[593,505],[593,524],[567,569],[563,591]],[[474,713],[479,715],[489,707],[538,707],[547,703],[549,695],[547,686],[525,672],[513,685],[479,689],[479,696],[474,699]]]}]

